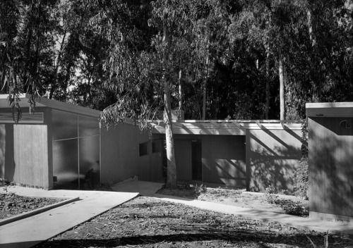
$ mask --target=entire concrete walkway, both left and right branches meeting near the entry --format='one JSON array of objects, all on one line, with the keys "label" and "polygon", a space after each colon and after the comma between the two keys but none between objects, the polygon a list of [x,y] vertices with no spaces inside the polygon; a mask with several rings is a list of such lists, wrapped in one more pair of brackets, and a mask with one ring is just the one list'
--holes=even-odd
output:
[{"label": "entire concrete walkway, both left and right branches meeting near the entry", "polygon": [[[55,235],[64,233],[75,225],[89,221],[91,218],[104,213],[114,206],[123,204],[133,199],[138,194],[148,197],[155,197],[168,202],[175,202],[195,206],[200,209],[216,211],[220,213],[234,214],[261,221],[273,221],[296,228],[316,230],[319,232],[343,233],[353,236],[352,225],[340,225],[324,221],[315,221],[309,218],[289,216],[287,214],[246,209],[238,206],[217,204],[213,202],[202,202],[198,200],[185,199],[180,197],[169,197],[162,194],[155,194],[162,183],[130,181],[113,185],[112,188],[119,192],[100,191],[78,191],[78,190],[37,190],[26,187],[8,187],[8,192],[32,197],[80,197],[78,202],[60,206],[44,213],[15,221],[0,226],[0,248],[32,247]],[[0,188],[1,190],[1,188]]]}]

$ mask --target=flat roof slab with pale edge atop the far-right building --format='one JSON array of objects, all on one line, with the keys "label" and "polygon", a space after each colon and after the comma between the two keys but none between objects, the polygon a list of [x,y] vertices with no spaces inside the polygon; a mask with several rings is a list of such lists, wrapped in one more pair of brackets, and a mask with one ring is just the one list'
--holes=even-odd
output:
[{"label": "flat roof slab with pale edge atop the far-right building", "polygon": [[306,106],[308,117],[353,117],[353,102],[320,102]]}]

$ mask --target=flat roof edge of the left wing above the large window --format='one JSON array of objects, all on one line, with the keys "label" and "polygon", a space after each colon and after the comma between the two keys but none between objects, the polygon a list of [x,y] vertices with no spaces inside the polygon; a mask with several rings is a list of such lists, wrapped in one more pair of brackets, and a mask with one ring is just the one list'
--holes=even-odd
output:
[{"label": "flat roof edge of the left wing above the large window", "polygon": [[[30,94],[20,94],[19,98],[21,108],[30,107],[30,104],[28,103],[28,99],[30,99]],[[77,113],[83,116],[92,116],[97,118],[100,116],[100,111],[97,111],[95,109],[89,109],[74,104],[56,101],[53,99],[47,99],[45,97],[37,97],[37,99],[35,100],[35,106],[48,107],[51,109],[66,111],[70,113]],[[0,108],[4,109],[9,107],[10,106],[8,102],[8,94],[0,94]]]}]

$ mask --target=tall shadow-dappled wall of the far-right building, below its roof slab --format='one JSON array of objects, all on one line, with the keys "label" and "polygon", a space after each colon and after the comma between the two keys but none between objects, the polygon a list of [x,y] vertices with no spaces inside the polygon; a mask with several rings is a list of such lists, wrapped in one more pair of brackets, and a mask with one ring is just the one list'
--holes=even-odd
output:
[{"label": "tall shadow-dappled wall of the far-right building, below its roof slab", "polygon": [[310,217],[352,222],[353,118],[313,117],[308,124]]}]

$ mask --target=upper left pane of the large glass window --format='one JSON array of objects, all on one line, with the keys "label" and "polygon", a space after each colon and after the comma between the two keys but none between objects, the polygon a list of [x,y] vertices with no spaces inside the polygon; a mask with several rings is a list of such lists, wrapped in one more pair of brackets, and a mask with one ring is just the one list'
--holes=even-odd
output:
[{"label": "upper left pane of the large glass window", "polygon": [[64,111],[52,111],[53,140],[77,137],[77,115]]}]

